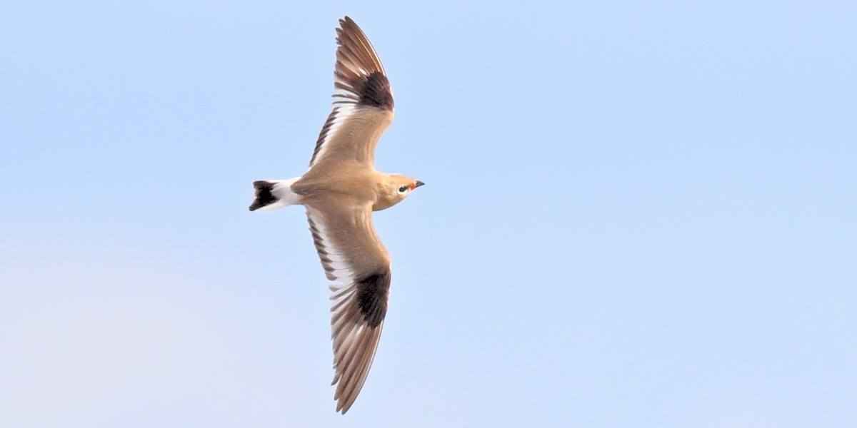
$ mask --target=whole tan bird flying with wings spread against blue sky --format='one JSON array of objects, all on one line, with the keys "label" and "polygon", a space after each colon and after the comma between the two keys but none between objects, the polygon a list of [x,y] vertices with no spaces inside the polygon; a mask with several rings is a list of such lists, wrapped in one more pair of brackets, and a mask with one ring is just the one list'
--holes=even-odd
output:
[{"label": "whole tan bird flying with wings spread against blue sky", "polygon": [[332,385],[345,414],[369,374],[387,314],[390,254],[372,212],[399,204],[423,181],[375,170],[375,146],[393,122],[393,92],[369,38],[339,20],[333,111],[321,127],[309,169],[290,180],[255,181],[250,211],[306,209],[315,249],[331,282]]}]

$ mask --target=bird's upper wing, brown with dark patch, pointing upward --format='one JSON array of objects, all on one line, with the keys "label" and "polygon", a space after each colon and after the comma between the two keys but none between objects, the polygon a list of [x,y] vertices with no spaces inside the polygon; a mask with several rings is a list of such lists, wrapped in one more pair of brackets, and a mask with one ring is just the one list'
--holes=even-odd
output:
[{"label": "bird's upper wing, brown with dark patch, pointing upward", "polygon": [[336,33],[333,111],[315,143],[310,170],[355,159],[373,163],[378,139],[393,122],[390,82],[366,34],[348,16],[339,20]]}]

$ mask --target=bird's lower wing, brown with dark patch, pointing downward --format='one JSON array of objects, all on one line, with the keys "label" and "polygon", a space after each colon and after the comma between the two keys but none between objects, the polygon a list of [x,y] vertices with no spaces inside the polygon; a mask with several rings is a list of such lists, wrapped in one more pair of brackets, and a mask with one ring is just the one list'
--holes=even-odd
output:
[{"label": "bird's lower wing, brown with dark patch, pointing downward", "polygon": [[309,229],[331,289],[333,384],[345,413],[363,388],[387,313],[390,257],[372,226],[372,205],[342,195],[306,204]]}]

